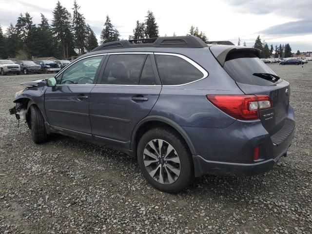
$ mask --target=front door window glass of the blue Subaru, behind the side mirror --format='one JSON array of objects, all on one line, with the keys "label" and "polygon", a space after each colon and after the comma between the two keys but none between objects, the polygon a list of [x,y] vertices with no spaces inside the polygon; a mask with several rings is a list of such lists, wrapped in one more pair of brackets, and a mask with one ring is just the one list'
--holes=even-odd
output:
[{"label": "front door window glass of the blue Subaru, behind the side mirror", "polygon": [[92,84],[103,56],[82,59],[57,78],[57,84]]}]

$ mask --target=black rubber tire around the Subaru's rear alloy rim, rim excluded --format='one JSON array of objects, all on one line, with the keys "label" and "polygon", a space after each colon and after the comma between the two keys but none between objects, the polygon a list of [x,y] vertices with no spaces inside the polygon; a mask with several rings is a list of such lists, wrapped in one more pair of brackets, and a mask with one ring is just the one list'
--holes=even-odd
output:
[{"label": "black rubber tire around the Subaru's rear alloy rim, rim excluded", "polygon": [[[163,184],[155,180],[147,171],[143,151],[145,146],[153,139],[162,139],[173,146],[180,160],[180,174],[171,184]],[[167,128],[155,128],[146,132],[137,145],[137,161],[143,176],[156,189],[166,193],[178,193],[185,189],[193,181],[194,166],[191,152],[184,139],[173,130]]]}]

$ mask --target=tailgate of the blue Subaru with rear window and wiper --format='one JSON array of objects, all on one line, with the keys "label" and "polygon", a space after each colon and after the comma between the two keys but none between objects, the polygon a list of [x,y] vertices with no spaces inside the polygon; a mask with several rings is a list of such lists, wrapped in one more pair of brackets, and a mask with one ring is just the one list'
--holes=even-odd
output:
[{"label": "tailgate of the blue Subaru with rear window and wiper", "polygon": [[248,49],[230,52],[225,59],[224,69],[245,94],[270,96],[273,108],[260,111],[260,120],[271,135],[279,131],[288,115],[289,83],[279,78],[258,59],[254,51]]}]

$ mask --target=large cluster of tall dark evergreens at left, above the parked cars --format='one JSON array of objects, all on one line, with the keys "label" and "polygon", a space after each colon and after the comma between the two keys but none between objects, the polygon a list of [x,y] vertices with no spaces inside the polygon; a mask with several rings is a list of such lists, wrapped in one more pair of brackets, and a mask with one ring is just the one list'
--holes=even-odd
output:
[{"label": "large cluster of tall dark evergreens at left, above the parked cars", "polygon": [[71,14],[58,1],[51,24],[41,14],[41,22],[36,25],[26,12],[21,13],[17,23],[11,23],[5,33],[0,26],[0,58],[70,58],[89,52],[98,46],[98,40],[79,8],[75,0]]}]

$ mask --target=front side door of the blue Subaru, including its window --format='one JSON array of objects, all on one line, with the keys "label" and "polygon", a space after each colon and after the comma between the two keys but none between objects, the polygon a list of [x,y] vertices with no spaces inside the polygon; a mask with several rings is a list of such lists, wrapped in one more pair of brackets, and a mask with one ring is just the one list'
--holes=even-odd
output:
[{"label": "front side door of the blue Subaru, including its window", "polygon": [[91,136],[90,92],[95,86],[103,56],[81,59],[57,76],[57,86],[45,91],[44,105],[52,128],[84,137]]}]

